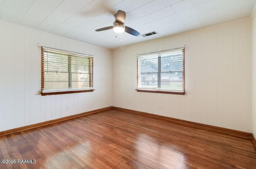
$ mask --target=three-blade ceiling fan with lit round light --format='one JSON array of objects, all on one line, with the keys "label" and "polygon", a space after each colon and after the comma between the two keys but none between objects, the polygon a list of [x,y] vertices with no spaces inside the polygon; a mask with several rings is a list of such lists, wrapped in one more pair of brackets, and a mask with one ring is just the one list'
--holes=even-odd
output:
[{"label": "three-blade ceiling fan with lit round light", "polygon": [[105,31],[108,29],[113,29],[116,33],[122,33],[125,31],[134,36],[140,35],[140,33],[138,31],[136,31],[128,26],[124,26],[125,16],[126,16],[126,13],[124,11],[118,10],[117,13],[114,15],[116,20],[113,23],[113,26],[96,29],[95,31]]}]

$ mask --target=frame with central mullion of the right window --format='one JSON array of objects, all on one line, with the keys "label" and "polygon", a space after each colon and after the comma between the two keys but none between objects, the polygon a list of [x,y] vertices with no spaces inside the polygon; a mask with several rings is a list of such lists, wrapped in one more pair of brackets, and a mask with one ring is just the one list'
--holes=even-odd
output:
[{"label": "frame with central mullion of the right window", "polygon": [[[158,55],[158,71],[157,74],[161,74],[161,55],[164,55],[166,53],[172,52],[172,51],[182,51],[182,89],[183,91],[175,91],[175,90],[169,90],[169,89],[161,89],[161,88],[142,88],[139,87],[140,84],[140,65],[139,65],[139,59],[142,57],[150,57],[151,55]],[[160,59],[159,59],[160,58]],[[164,93],[164,94],[179,94],[179,95],[185,95],[185,47],[182,48],[176,48],[176,49],[170,49],[165,51],[158,51],[158,52],[152,52],[152,53],[145,53],[140,54],[136,56],[136,65],[137,65],[137,85],[136,85],[136,91],[137,92],[150,92],[150,93]],[[160,86],[161,79],[158,76],[157,83],[158,86]]]}]

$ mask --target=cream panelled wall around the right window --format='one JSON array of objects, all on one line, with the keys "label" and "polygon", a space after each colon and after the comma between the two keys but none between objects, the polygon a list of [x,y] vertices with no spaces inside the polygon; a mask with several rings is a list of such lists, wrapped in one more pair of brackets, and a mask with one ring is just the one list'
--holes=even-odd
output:
[{"label": "cream panelled wall around the right window", "polygon": [[[114,49],[113,106],[252,132],[251,35],[245,18]],[[184,45],[186,95],[136,92],[136,54]]]}]

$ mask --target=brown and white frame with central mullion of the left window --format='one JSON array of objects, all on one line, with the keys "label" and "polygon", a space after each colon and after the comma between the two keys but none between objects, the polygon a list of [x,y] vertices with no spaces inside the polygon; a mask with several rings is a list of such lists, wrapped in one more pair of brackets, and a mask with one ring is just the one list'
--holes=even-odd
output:
[{"label": "brown and white frame with central mullion of the left window", "polygon": [[[60,89],[44,89],[44,51],[49,50],[49,51],[54,51],[54,52],[59,52],[62,53],[64,55],[68,56],[68,60],[71,59],[71,56],[75,56],[75,57],[88,57],[89,58],[89,85],[90,87],[86,87],[86,88],[60,88]],[[41,47],[41,95],[42,96],[46,96],[46,95],[56,95],[56,94],[71,94],[71,93],[81,93],[81,92],[93,92],[95,89],[93,88],[93,62],[94,62],[94,56],[93,55],[88,55],[88,54],[82,54],[82,53],[76,53],[76,52],[71,52],[71,51],[65,51],[65,50],[61,50],[61,49],[54,49],[51,47]],[[70,62],[68,61],[68,86],[70,86],[70,83],[72,83],[72,81],[70,81],[70,73],[72,74],[72,72],[70,71]]]}]

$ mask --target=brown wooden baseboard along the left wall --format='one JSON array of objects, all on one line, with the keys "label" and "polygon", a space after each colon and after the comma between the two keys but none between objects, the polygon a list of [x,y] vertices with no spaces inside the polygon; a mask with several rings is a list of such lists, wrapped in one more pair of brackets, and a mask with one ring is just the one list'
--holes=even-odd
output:
[{"label": "brown wooden baseboard along the left wall", "polygon": [[38,128],[40,126],[46,126],[46,125],[49,125],[49,124],[62,122],[62,121],[65,121],[65,120],[69,120],[69,119],[72,119],[72,118],[77,118],[77,117],[80,117],[80,116],[85,116],[85,115],[88,115],[88,114],[93,114],[93,113],[98,113],[98,112],[102,112],[102,111],[105,111],[105,110],[110,110],[111,108],[112,108],[112,106],[109,106],[109,107],[100,108],[100,109],[96,109],[96,110],[91,110],[91,111],[80,113],[80,114],[74,114],[74,115],[71,115],[71,116],[57,118],[57,119],[54,119],[54,120],[48,120],[48,121],[45,121],[45,122],[31,124],[31,125],[28,125],[28,126],[22,126],[22,127],[19,127],[19,128],[5,130],[5,131],[0,132],[0,136],[4,136],[4,135],[7,135],[7,134],[13,134],[13,133],[16,133],[16,132],[29,130],[29,129],[32,129],[32,128]]}]

